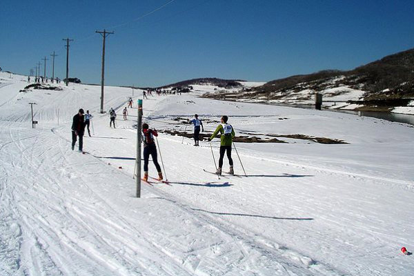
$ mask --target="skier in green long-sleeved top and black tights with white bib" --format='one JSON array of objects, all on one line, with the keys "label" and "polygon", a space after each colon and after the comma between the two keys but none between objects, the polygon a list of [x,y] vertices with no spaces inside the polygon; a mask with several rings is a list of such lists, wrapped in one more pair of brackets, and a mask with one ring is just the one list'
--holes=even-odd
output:
[{"label": "skier in green long-sleeved top and black tights with white bib", "polygon": [[228,117],[224,115],[221,117],[221,124],[217,126],[215,132],[211,137],[208,138],[208,141],[213,140],[214,137],[220,132],[221,134],[221,143],[220,143],[220,158],[219,158],[219,168],[217,168],[217,174],[221,175],[221,168],[223,167],[223,158],[224,153],[227,152],[228,164],[230,164],[230,175],[234,175],[233,170],[233,159],[231,159],[231,146],[233,144],[233,137],[235,137],[235,130],[233,126],[227,124]]}]

